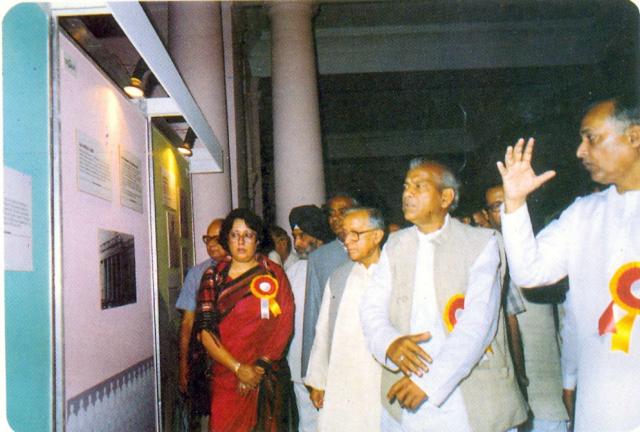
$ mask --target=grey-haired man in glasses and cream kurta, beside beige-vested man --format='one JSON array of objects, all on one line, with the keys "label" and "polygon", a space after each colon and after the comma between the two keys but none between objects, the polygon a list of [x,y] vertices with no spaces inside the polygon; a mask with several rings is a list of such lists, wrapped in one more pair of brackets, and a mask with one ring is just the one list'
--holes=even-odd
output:
[{"label": "grey-haired man in glasses and cream kurta, beside beige-vested man", "polygon": [[305,383],[321,408],[319,432],[380,430],[381,366],[360,327],[360,302],[380,257],[384,219],[379,211],[352,208],[343,221],[350,262],[329,278],[322,296]]}]

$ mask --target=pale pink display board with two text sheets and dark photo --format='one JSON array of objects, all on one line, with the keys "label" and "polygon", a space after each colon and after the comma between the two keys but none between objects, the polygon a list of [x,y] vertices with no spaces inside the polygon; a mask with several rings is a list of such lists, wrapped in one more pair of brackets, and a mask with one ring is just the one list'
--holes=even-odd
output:
[{"label": "pale pink display board with two text sheets and dark photo", "polygon": [[[153,355],[147,125],[141,111],[60,35],[65,395]],[[106,147],[111,200],[78,187],[77,133]],[[143,212],[120,202],[120,152],[140,160]],[[137,301],[101,308],[98,230],[135,237]],[[57,345],[60,346],[59,344]]]}]

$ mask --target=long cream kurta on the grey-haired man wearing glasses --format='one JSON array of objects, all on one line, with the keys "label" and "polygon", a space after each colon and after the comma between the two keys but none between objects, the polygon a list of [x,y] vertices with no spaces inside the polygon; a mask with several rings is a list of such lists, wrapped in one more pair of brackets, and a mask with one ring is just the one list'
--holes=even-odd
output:
[{"label": "long cream kurta on the grey-haired man wearing glasses", "polygon": [[332,340],[329,340],[331,279],[324,290],[305,377],[307,385],[325,390],[318,431],[380,430],[381,366],[367,350],[360,327],[360,301],[369,277],[370,270],[362,264],[353,266],[338,307]]}]

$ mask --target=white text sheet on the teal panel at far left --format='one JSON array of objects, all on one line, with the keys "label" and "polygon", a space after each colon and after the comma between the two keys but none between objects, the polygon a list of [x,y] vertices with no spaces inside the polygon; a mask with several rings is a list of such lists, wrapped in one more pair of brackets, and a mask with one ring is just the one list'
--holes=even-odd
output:
[{"label": "white text sheet on the teal panel at far left", "polygon": [[4,167],[4,268],[33,271],[31,176]]}]

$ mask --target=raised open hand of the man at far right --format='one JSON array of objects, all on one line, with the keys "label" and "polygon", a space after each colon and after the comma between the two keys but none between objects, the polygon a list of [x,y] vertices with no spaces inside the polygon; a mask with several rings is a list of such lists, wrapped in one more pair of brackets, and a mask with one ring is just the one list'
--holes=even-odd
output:
[{"label": "raised open hand of the man at far right", "polygon": [[507,147],[504,163],[498,162],[498,171],[504,187],[504,206],[507,213],[516,211],[527,201],[527,196],[556,175],[555,171],[546,171],[536,175],[531,168],[534,139],[529,138],[527,145],[520,138],[515,146]]}]

